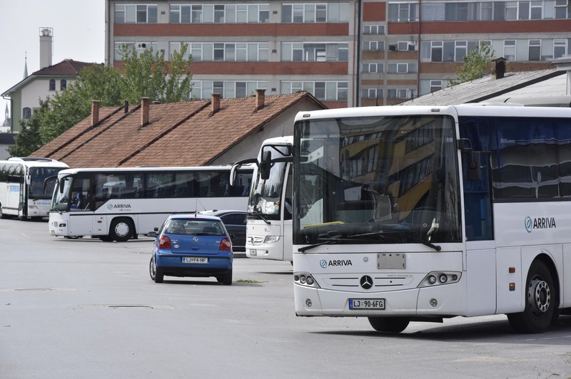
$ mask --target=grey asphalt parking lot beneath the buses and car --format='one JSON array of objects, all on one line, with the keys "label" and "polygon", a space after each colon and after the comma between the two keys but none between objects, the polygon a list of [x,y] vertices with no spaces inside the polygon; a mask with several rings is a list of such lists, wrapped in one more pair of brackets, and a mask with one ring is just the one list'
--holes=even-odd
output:
[{"label": "grey asphalt parking lot beneath the buses and car", "polygon": [[411,323],[300,318],[288,262],[238,258],[234,283],[148,276],[150,239],[50,237],[0,220],[0,378],[571,378],[571,317]]}]

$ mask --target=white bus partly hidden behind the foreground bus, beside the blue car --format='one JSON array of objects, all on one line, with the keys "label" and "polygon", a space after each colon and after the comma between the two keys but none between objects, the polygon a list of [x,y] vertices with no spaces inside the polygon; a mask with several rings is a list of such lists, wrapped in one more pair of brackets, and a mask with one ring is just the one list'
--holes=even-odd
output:
[{"label": "white bus partly hidden behind the foreground bus, beside the blue car", "polygon": [[[246,256],[256,259],[292,261],[291,239],[291,156],[293,136],[265,140],[255,162],[246,218]],[[263,174],[263,159],[268,162]]]}]

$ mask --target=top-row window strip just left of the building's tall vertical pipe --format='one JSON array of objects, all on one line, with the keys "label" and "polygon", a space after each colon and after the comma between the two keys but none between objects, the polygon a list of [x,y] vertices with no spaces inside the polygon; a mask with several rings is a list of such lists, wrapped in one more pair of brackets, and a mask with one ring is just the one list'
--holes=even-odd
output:
[{"label": "top-row window strip just left of the building's tall vertical pipe", "polygon": [[348,22],[348,3],[282,4],[283,23]]}]

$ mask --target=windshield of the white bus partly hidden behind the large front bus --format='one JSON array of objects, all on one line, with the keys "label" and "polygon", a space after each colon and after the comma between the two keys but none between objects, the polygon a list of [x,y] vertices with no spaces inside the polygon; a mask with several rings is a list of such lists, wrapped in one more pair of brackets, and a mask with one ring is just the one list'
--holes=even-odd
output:
[{"label": "windshield of the white bus partly hidden behind the large front bus", "polygon": [[[287,152],[288,147],[274,147],[281,151],[283,155]],[[272,157],[276,157],[273,152]],[[273,163],[270,171],[270,177],[266,180],[261,179],[261,170],[258,170],[255,182],[252,186],[252,193],[248,199],[248,216],[263,217],[264,219],[278,220],[280,219],[280,197],[285,181],[285,162]]]}]

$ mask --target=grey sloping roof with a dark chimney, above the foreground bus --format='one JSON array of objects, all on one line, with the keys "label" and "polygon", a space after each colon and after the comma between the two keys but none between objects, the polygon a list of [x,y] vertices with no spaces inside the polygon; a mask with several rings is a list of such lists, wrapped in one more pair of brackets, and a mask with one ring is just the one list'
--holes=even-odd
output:
[{"label": "grey sloping roof with a dark chimney, above the foreground bus", "polygon": [[443,88],[413,100],[405,101],[399,105],[454,105],[462,103],[480,103],[485,100],[497,98],[520,88],[547,81],[550,78],[563,75],[565,71],[556,68],[540,71],[521,71],[506,73],[504,78],[495,79],[488,75],[476,81],[460,83],[452,87]]}]

